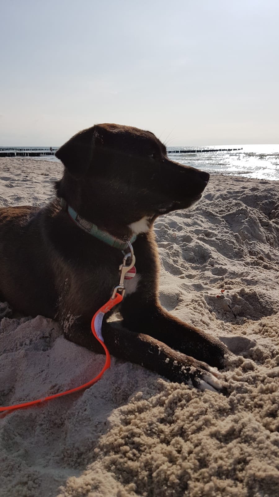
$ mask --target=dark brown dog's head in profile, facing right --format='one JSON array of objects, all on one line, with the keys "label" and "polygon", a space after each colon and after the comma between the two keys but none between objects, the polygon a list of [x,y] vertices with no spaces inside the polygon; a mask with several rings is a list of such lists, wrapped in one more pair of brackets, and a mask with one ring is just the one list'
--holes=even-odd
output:
[{"label": "dark brown dog's head in profile, facing right", "polygon": [[168,159],[153,133],[118,124],[80,131],[56,156],[65,166],[58,194],[107,230],[190,207],[209,180],[207,172]]}]

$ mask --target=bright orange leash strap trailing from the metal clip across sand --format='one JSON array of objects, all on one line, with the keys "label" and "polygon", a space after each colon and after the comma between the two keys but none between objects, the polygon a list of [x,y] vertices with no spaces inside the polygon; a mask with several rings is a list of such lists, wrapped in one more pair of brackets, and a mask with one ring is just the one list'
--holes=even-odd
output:
[{"label": "bright orange leash strap trailing from the metal clip across sand", "polygon": [[104,340],[102,337],[101,327],[104,315],[110,311],[114,306],[119,304],[123,299],[123,296],[120,293],[116,293],[114,298],[110,298],[106,304],[104,304],[93,316],[91,321],[91,330],[95,338],[101,343],[106,353],[106,361],[102,371],[93,378],[93,380],[80,385],[80,387],[72,388],[71,390],[67,390],[66,392],[61,392],[60,394],[50,395],[49,397],[45,397],[44,399],[37,399],[36,401],[24,402],[23,404],[16,404],[14,406],[6,406],[0,407],[1,412],[11,412],[16,409],[22,409],[30,406],[35,406],[36,404],[41,404],[42,402],[50,401],[51,399],[56,399],[57,397],[62,397],[63,395],[70,395],[74,392],[79,392],[80,390],[84,390],[85,388],[91,387],[94,383],[97,383],[99,379],[103,376],[106,369],[110,367],[110,354],[109,351],[104,344]]}]

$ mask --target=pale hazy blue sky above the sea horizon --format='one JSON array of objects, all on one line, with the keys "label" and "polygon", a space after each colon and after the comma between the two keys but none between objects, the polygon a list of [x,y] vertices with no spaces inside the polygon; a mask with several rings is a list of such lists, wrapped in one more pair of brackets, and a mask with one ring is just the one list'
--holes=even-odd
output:
[{"label": "pale hazy blue sky above the sea horizon", "polygon": [[0,146],[279,143],[278,0],[0,0]]}]

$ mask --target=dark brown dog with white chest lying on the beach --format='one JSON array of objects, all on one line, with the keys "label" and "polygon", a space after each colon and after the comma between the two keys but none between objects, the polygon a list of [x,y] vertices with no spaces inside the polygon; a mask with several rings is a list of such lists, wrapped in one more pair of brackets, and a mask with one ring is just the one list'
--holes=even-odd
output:
[{"label": "dark brown dog with white chest lying on the beach", "polygon": [[170,380],[221,390],[208,364],[222,368],[225,346],[159,304],[152,230],[157,216],[199,200],[209,174],[169,160],[152,133],[116,124],[77,133],[56,155],[65,166],[59,198],[42,209],[0,209],[1,298],[26,315],[58,319],[66,338],[102,352],[90,322],[119,283],[123,247],[88,231],[93,223],[124,245],[136,234],[137,276],[119,309],[123,322],[103,323],[105,344]]}]

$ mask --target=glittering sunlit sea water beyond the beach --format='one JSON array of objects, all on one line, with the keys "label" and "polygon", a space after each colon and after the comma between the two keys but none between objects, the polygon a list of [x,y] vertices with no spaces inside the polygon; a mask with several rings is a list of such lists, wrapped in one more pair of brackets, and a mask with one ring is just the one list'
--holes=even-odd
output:
[{"label": "glittering sunlit sea water beyond the beach", "polygon": [[[168,150],[187,150],[186,154],[169,154],[181,164],[197,167],[210,174],[224,174],[255,179],[279,181],[278,145],[210,145],[168,147]],[[213,152],[196,153],[196,150]],[[222,149],[221,151],[219,149]],[[241,150],[227,150],[241,149]],[[32,157],[33,160],[58,161],[55,156]]]}]

